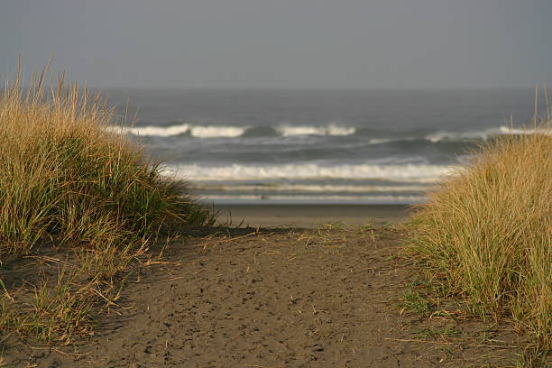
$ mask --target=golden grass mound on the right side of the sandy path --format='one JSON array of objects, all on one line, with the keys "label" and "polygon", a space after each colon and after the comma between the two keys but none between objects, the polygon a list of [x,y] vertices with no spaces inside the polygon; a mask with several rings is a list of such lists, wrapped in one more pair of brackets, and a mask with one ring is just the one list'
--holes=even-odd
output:
[{"label": "golden grass mound on the right side of the sandy path", "polygon": [[474,313],[552,340],[552,137],[501,137],[413,218],[410,251]]}]

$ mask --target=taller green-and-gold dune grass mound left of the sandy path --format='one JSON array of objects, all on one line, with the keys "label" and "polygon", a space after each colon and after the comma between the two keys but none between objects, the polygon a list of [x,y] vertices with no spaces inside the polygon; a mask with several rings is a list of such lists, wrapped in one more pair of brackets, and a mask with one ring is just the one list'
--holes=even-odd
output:
[{"label": "taller green-and-gold dune grass mound left of the sandy path", "polygon": [[[67,340],[87,329],[98,301],[113,304],[115,276],[152,239],[213,216],[159,162],[106,131],[114,110],[99,95],[63,77],[46,89],[45,76],[25,89],[15,78],[0,93],[0,329]],[[14,289],[6,265],[45,245],[71,261]]]}]

